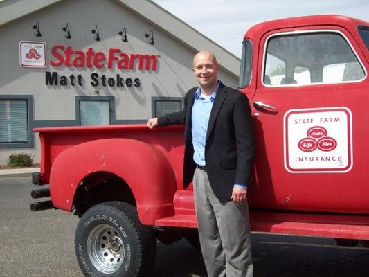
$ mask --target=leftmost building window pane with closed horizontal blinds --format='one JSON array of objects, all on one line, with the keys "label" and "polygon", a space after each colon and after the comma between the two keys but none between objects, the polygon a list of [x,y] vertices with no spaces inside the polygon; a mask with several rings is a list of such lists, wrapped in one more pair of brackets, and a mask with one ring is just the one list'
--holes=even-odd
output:
[{"label": "leftmost building window pane with closed horizontal blinds", "polygon": [[0,99],[0,143],[28,143],[28,102]]}]

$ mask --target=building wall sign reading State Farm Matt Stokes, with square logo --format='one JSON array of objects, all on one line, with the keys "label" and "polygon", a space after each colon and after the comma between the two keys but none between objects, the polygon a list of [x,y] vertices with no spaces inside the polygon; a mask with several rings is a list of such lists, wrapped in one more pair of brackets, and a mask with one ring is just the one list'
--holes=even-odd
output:
[{"label": "building wall sign reading State Farm Matt Stokes, with square logo", "polygon": [[[51,48],[50,66],[66,66],[66,68],[111,69],[114,75],[92,72],[89,80],[85,80],[82,71],[71,69],[70,74],[60,74],[60,71],[45,71],[46,86],[68,85],[84,87],[141,87],[140,78],[132,75],[124,76],[121,71],[155,71],[160,55],[125,53],[119,48],[109,48],[107,51],[96,51],[92,47],[87,50],[74,49],[72,46],[55,45]],[[23,67],[46,67],[46,44],[44,42],[20,42],[19,64]],[[65,72],[65,71],[64,71]]]}]

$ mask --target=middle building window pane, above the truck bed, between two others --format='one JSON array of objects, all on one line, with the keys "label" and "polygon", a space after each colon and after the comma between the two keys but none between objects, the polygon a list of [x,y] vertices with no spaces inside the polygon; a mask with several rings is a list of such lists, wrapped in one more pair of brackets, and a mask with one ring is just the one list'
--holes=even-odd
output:
[{"label": "middle building window pane, above the truck bed, between two others", "polygon": [[80,100],[80,125],[110,125],[109,100]]}]

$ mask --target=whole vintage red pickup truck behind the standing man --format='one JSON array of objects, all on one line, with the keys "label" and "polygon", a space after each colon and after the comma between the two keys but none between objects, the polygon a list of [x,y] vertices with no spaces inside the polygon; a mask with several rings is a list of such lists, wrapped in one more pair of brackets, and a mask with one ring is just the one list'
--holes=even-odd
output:
[{"label": "whole vintage red pickup truck behind the standing man", "polygon": [[[338,15],[250,28],[240,91],[251,103],[253,231],[369,240],[369,23]],[[86,276],[143,276],[155,240],[197,244],[192,186],[183,189],[183,127],[37,128],[41,172],[33,211],[80,217]]]}]

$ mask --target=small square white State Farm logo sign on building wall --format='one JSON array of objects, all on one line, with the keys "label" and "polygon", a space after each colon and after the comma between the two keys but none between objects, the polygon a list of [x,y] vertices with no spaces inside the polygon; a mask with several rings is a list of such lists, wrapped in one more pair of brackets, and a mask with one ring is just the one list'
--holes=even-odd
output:
[{"label": "small square white State Farm logo sign on building wall", "polygon": [[19,42],[19,64],[22,67],[46,67],[46,44]]}]

